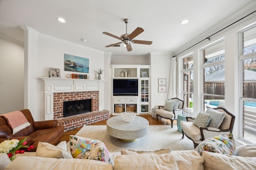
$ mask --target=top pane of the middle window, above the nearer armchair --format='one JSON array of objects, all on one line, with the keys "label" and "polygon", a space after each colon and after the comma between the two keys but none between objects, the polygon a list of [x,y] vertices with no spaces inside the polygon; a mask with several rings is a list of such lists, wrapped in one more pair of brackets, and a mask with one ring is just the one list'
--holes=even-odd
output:
[{"label": "top pane of the middle window, above the nearer armchair", "polygon": [[224,41],[207,47],[203,50],[204,64],[214,63],[225,59]]}]

